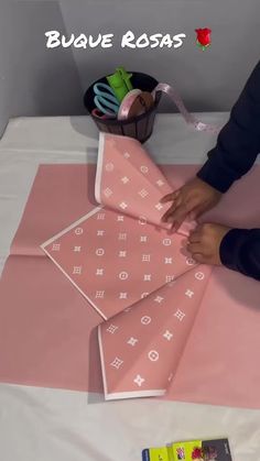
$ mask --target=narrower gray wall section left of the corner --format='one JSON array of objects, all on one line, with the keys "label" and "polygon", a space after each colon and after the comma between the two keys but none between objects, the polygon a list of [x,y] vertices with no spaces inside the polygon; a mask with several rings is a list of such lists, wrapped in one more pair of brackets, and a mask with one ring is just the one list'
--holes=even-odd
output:
[{"label": "narrower gray wall section left of the corner", "polygon": [[73,52],[45,47],[56,28],[65,31],[56,1],[0,0],[0,134],[10,117],[84,110]]}]

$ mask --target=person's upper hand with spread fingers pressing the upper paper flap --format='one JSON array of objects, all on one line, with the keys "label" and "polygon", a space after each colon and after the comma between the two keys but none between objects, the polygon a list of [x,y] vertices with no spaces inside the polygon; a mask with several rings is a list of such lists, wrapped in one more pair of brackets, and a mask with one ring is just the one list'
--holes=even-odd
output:
[{"label": "person's upper hand with spread fingers pressing the upper paper flap", "polygon": [[171,222],[172,229],[176,231],[188,216],[192,219],[198,218],[198,216],[217,205],[220,198],[221,193],[195,177],[180,189],[167,194],[161,199],[162,204],[173,201],[172,206],[163,215],[162,221]]}]

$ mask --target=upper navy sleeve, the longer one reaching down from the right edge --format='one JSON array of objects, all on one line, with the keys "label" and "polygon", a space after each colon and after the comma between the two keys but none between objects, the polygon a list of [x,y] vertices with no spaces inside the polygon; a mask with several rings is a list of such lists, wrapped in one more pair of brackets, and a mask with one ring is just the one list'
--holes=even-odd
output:
[{"label": "upper navy sleeve, the longer one reaching down from the right edge", "polygon": [[260,151],[260,62],[252,70],[241,95],[221,129],[216,146],[197,176],[226,193],[231,184],[253,165]]}]

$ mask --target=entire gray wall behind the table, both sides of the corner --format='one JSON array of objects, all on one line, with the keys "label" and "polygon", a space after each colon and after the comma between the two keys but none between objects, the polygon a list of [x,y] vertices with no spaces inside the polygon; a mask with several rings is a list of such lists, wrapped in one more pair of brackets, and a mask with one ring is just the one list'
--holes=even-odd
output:
[{"label": "entire gray wall behind the table, both sides of the corner", "polygon": [[[194,29],[213,30],[195,46]],[[120,48],[128,30],[187,34],[178,50]],[[260,56],[259,0],[0,0],[0,133],[9,117],[84,113],[84,89],[118,65],[175,84],[194,111],[229,110]],[[115,33],[108,50],[45,48],[44,32]],[[175,111],[164,98],[162,111]]]}]

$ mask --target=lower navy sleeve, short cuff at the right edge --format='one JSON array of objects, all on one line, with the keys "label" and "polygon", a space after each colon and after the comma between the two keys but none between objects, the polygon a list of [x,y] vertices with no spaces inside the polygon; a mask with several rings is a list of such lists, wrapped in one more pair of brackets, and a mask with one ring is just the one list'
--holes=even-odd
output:
[{"label": "lower navy sleeve, short cuff at the right edge", "polygon": [[231,229],[220,243],[221,263],[260,281],[260,229]]}]

